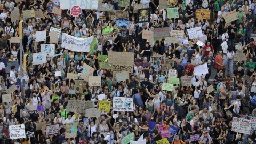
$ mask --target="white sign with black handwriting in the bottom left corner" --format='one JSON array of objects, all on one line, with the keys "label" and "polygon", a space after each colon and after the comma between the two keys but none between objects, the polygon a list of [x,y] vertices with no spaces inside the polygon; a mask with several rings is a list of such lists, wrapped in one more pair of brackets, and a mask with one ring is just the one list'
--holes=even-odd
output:
[{"label": "white sign with black handwriting in the bottom left corner", "polygon": [[[46,122],[46,121],[45,121]],[[26,138],[25,125],[9,125],[10,139]]]}]

